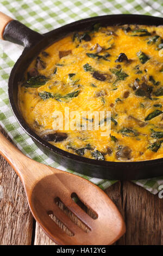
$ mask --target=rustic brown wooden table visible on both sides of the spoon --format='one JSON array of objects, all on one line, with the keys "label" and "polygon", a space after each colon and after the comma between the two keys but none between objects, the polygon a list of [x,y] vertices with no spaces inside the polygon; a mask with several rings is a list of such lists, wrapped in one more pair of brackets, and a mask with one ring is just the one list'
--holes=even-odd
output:
[{"label": "rustic brown wooden table visible on both sides of the spoon", "polygon": [[[0,186],[0,245],[55,245],[35,223],[21,181],[3,157]],[[116,245],[163,245],[163,199],[129,181],[117,182],[105,192],[127,225]]]}]

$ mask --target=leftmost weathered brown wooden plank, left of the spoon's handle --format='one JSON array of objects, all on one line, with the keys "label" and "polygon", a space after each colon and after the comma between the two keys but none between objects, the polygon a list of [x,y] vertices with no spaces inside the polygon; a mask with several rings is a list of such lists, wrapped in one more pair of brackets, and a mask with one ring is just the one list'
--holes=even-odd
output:
[{"label": "leftmost weathered brown wooden plank, left of the spoon's handle", "polygon": [[[0,130],[2,132],[1,127]],[[20,179],[2,156],[0,186],[3,188],[3,198],[0,199],[0,245],[30,245],[33,216]]]}]

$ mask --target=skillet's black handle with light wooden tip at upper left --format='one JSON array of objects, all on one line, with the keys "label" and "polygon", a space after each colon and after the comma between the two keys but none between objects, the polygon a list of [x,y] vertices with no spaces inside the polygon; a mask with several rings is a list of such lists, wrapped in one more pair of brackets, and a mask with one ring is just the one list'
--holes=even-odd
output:
[{"label": "skillet's black handle with light wooden tip at upper left", "polygon": [[30,47],[43,39],[44,36],[0,11],[0,38],[24,47]]}]

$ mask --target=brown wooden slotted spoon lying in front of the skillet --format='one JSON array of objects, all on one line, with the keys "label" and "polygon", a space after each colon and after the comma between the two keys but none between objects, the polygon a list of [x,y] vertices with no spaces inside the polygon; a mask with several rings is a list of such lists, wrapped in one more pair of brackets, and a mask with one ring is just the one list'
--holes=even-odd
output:
[{"label": "brown wooden slotted spoon lying in front of the skillet", "polygon": [[[64,172],[29,159],[0,133],[0,153],[15,169],[26,191],[35,220],[58,245],[111,245],[126,231],[123,218],[111,199],[96,185],[77,175]],[[91,218],[72,199],[78,198],[96,212]],[[62,211],[61,202],[90,230],[86,233]],[[72,233],[69,236],[55,223],[54,214]]]}]

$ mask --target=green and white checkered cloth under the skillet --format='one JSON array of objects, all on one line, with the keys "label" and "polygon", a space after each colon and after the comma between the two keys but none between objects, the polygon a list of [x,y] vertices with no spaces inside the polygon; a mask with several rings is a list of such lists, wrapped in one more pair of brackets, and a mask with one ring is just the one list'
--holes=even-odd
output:
[{"label": "green and white checkered cloth under the skillet", "polygon": [[[35,31],[46,33],[70,22],[99,15],[131,13],[162,16],[163,2],[162,0],[1,0],[0,10]],[[8,78],[22,50],[22,46],[0,40],[0,125],[24,154],[38,162],[67,170],[37,148],[32,139],[18,125],[11,112],[7,92]],[[116,180],[91,178],[72,170],[67,171],[83,176],[103,190],[116,182]],[[159,192],[159,187],[163,185],[163,176],[133,182],[156,194]]]}]

